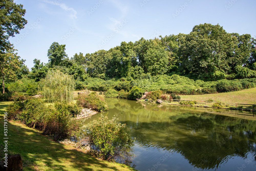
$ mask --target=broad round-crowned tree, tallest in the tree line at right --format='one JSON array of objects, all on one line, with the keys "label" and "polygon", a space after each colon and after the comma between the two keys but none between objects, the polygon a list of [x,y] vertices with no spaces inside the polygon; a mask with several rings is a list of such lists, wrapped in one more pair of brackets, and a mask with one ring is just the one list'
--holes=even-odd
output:
[{"label": "broad round-crowned tree, tallest in the tree line at right", "polygon": [[231,61],[238,56],[237,46],[237,37],[220,25],[196,25],[185,39],[180,36],[181,69],[196,78],[209,77],[216,71],[228,73]]}]

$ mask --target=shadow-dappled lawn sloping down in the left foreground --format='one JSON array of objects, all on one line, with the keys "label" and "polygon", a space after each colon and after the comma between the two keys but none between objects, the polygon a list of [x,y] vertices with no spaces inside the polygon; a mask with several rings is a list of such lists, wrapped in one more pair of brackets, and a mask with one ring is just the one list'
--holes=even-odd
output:
[{"label": "shadow-dappled lawn sloping down in the left foreground", "polygon": [[[10,102],[0,102],[1,137],[3,115]],[[133,170],[125,165],[100,161],[82,151],[52,140],[24,124],[8,121],[8,154],[20,154],[23,170]],[[3,157],[3,141],[0,142]]]}]

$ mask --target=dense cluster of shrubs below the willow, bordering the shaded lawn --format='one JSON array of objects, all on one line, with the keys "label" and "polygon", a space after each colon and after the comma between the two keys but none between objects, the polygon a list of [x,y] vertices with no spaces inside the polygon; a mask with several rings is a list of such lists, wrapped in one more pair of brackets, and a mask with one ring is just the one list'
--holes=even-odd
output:
[{"label": "dense cluster of shrubs below the willow, bordering the shaded lawn", "polygon": [[54,140],[70,137],[81,127],[79,120],[72,117],[78,111],[76,104],[61,102],[45,105],[41,99],[30,99],[24,102],[11,103],[6,111],[8,119],[18,120],[29,127],[43,131],[43,135],[53,135]]}]

